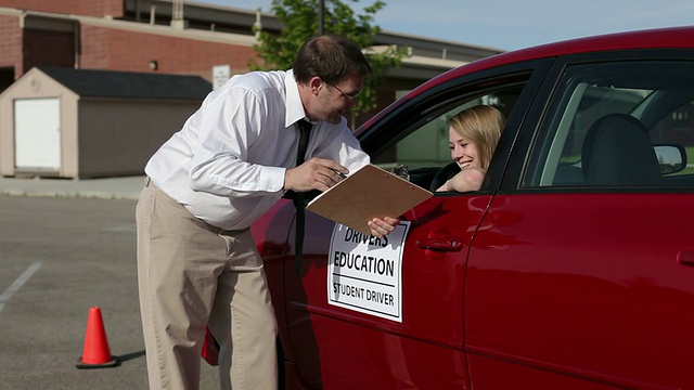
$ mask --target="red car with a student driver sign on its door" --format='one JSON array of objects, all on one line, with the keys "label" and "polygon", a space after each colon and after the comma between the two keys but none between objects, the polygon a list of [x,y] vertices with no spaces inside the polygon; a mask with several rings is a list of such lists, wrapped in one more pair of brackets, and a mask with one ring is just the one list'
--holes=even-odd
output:
[{"label": "red car with a student driver sign on its door", "polygon": [[[362,126],[426,188],[447,119],[507,123],[483,188],[386,240],[290,199],[253,225],[286,389],[694,389],[694,27],[542,46],[427,81]],[[377,196],[377,194],[374,194]]]}]

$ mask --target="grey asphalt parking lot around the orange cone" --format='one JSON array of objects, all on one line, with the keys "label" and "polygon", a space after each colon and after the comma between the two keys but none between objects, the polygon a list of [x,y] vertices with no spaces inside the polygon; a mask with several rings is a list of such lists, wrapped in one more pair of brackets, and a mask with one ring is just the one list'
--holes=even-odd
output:
[{"label": "grey asphalt parking lot around the orange cone", "polygon": [[[1,184],[1,183],[0,183]],[[0,389],[146,389],[130,198],[0,195]],[[113,368],[77,369],[99,307]],[[201,389],[216,368],[202,362]]]}]

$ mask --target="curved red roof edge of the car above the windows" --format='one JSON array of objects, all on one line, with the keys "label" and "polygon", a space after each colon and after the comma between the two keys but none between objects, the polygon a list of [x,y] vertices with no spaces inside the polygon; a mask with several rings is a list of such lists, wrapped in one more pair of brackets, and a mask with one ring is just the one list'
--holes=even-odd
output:
[{"label": "curved red roof edge of the car above the windows", "polygon": [[555,57],[570,54],[594,53],[603,51],[617,50],[637,50],[637,49],[684,49],[694,48],[694,26],[667,27],[657,29],[644,29],[626,32],[615,32],[586,38],[577,38],[571,40],[547,43],[542,46],[531,47],[509,51],[501,54],[494,54],[485,58],[461,65],[457,68],[448,70],[428,81],[420,84],[400,100],[396,101],[381,113],[376,114],[368,120],[359,130],[361,133],[380,117],[387,112],[393,110],[402,103],[412,98],[427,91],[448,80],[480,72],[484,69],[494,68],[502,65],[509,65],[525,61],[540,60],[547,57]]}]

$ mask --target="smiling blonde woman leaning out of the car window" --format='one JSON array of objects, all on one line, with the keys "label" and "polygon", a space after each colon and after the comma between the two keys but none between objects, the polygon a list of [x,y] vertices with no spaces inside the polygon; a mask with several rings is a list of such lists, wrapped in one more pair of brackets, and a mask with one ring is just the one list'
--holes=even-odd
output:
[{"label": "smiling blonde woman leaning out of the car window", "polygon": [[487,105],[467,108],[452,117],[448,140],[451,157],[460,172],[436,191],[479,190],[504,125],[503,114]]}]

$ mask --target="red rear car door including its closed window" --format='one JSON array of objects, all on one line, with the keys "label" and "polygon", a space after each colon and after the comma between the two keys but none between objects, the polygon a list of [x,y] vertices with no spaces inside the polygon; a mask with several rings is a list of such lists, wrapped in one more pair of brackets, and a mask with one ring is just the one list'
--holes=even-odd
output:
[{"label": "red rear car door including its closed window", "polygon": [[552,69],[470,250],[474,388],[694,387],[694,171],[654,155],[691,155],[693,60],[604,53]]}]

